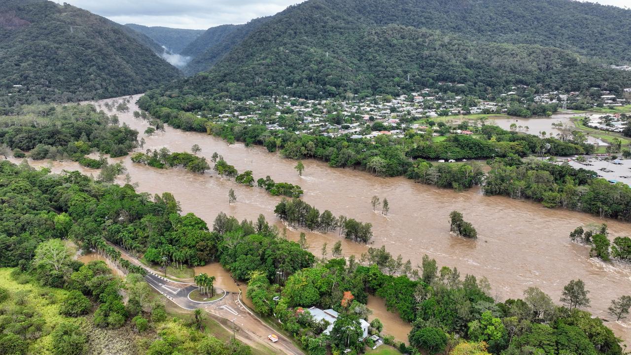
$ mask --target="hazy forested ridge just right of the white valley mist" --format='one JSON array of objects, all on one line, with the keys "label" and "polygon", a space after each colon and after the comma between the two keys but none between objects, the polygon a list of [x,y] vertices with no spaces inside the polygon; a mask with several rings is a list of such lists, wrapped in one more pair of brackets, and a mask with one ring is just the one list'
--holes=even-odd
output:
[{"label": "hazy forested ridge just right of the white valley mist", "polygon": [[198,40],[188,45],[182,52],[184,56],[193,59],[186,68],[182,69],[186,75],[194,75],[208,70],[225,56],[233,47],[239,45],[250,33],[256,31],[270,17],[256,18],[245,25],[225,25],[211,27]]}]

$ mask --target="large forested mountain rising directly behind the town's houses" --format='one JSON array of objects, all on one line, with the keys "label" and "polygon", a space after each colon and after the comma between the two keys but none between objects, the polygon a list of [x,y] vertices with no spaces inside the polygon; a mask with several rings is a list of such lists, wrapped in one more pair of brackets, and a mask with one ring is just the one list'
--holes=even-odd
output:
[{"label": "large forested mountain rising directly behind the town's houses", "polygon": [[242,98],[399,93],[439,81],[468,93],[631,84],[606,66],[631,59],[631,10],[570,0],[310,0],[232,45],[196,57],[187,74],[215,65],[184,87]]}]

